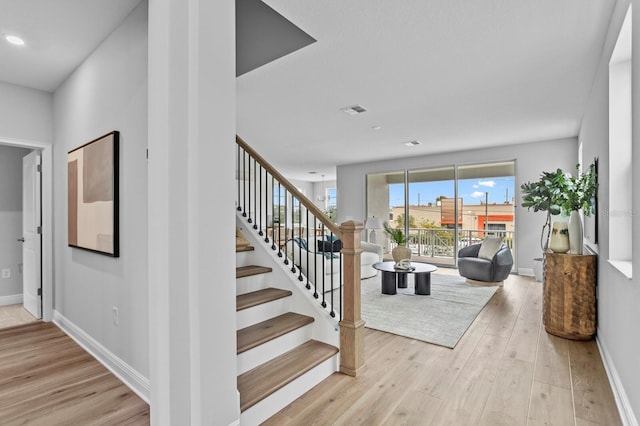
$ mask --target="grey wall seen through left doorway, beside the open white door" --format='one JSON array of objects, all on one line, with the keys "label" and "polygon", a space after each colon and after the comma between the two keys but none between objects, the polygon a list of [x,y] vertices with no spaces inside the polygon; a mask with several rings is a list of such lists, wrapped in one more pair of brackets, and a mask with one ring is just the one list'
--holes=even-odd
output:
[{"label": "grey wall seen through left doorway, beside the open white door", "polygon": [[3,296],[22,294],[22,157],[24,148],[0,145],[0,269],[9,268],[10,278],[0,278]]}]

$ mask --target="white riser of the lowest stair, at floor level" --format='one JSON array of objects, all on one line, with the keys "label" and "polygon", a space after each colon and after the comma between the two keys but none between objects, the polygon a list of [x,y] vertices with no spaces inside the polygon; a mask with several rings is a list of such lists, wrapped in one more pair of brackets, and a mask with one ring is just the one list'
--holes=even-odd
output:
[{"label": "white riser of the lowest stair, at floor level", "polygon": [[338,355],[327,359],[240,415],[240,424],[258,425],[338,370]]}]

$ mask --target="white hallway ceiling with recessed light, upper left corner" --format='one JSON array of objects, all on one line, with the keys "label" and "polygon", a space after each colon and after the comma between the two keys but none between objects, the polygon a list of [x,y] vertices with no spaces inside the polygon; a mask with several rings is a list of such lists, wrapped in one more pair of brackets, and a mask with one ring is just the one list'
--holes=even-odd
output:
[{"label": "white hallway ceiling with recessed light, upper left corner", "polygon": [[[0,0],[0,81],[53,92],[140,0]],[[22,37],[13,46],[5,34]]]}]

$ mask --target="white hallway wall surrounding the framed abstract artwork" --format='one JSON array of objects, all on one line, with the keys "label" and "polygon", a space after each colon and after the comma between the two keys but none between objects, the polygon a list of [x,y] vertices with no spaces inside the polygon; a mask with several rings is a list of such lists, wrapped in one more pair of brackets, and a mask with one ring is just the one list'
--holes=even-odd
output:
[{"label": "white hallway wall surrounding the framed abstract artwork", "polygon": [[[56,90],[53,107],[54,309],[148,377],[146,2]],[[70,248],[66,237],[67,152],[112,130],[120,131],[119,258]]]}]

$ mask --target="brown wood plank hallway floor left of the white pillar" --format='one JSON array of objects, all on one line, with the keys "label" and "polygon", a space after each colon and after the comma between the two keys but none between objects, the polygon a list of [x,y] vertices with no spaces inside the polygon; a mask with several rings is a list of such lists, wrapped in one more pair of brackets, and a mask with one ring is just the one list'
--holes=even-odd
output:
[{"label": "brown wood plank hallway floor left of the white pillar", "polygon": [[148,425],[149,406],[52,323],[0,330],[0,424]]}]

